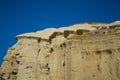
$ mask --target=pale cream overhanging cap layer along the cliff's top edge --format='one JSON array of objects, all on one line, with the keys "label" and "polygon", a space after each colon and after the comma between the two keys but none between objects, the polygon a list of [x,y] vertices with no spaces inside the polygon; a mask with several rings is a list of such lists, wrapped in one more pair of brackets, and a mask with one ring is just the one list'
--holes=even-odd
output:
[{"label": "pale cream overhanging cap layer along the cliff's top edge", "polygon": [[109,28],[113,25],[120,25],[120,21],[116,21],[113,23],[91,23],[91,22],[85,22],[81,24],[75,24],[68,27],[61,27],[61,28],[48,28],[45,30],[37,31],[37,32],[31,32],[31,33],[25,33],[21,35],[17,35],[16,38],[22,38],[22,37],[34,37],[34,38],[40,38],[40,39],[49,39],[52,34],[55,32],[64,33],[65,31],[74,31],[77,30],[88,30],[88,31],[94,31],[101,28]]}]

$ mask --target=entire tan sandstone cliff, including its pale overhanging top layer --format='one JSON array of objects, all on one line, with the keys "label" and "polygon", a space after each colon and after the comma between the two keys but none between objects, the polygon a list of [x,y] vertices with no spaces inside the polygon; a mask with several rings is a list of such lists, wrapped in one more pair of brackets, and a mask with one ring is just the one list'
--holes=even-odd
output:
[{"label": "entire tan sandstone cliff, including its pale overhanging top layer", "polygon": [[0,80],[120,80],[120,22],[26,33],[8,49]]}]

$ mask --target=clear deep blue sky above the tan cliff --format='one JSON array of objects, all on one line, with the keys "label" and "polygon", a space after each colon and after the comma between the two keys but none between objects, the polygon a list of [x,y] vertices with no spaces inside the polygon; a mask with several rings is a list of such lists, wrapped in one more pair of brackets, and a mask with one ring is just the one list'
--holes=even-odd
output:
[{"label": "clear deep blue sky above the tan cliff", "polygon": [[120,20],[120,0],[0,0],[0,64],[18,34],[116,20]]}]

